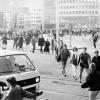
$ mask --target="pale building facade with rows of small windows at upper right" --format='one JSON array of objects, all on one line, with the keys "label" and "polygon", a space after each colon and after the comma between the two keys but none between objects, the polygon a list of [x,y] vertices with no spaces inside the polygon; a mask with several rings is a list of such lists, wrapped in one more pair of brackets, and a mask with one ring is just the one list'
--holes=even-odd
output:
[{"label": "pale building facade with rows of small windows at upper right", "polygon": [[[60,27],[100,26],[100,3],[98,0],[59,0]],[[57,8],[58,9],[58,8]]]}]

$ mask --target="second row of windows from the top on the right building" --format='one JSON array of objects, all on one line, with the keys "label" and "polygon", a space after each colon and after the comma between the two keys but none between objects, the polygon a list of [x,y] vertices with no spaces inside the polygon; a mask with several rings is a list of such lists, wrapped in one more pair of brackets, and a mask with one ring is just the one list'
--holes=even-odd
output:
[{"label": "second row of windows from the top on the right building", "polygon": [[60,6],[60,9],[98,9],[98,5],[67,5]]}]

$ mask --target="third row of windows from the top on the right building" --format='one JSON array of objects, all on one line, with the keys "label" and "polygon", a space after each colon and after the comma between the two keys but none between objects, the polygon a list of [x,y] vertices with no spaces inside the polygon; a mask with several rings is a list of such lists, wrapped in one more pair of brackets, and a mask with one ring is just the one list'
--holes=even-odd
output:
[{"label": "third row of windows from the top on the right building", "polygon": [[98,11],[61,11],[60,14],[98,14]]}]

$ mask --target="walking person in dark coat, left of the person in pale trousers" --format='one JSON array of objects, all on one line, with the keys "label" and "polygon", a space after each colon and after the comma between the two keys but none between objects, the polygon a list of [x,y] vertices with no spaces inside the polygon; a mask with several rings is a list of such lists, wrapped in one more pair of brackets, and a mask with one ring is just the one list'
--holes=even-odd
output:
[{"label": "walking person in dark coat, left of the person in pale trousers", "polygon": [[66,77],[66,62],[68,58],[70,57],[70,52],[67,49],[67,45],[64,44],[61,51],[60,51],[60,57],[61,57],[61,63],[62,63],[62,75]]}]

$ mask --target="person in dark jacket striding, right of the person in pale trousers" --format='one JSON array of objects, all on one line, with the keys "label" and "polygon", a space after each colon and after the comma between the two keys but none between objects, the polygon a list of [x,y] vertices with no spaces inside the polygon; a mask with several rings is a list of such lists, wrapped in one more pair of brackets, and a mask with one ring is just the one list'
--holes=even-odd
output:
[{"label": "person in dark jacket striding, right of the person in pale trousers", "polygon": [[87,53],[87,48],[84,48],[83,52],[79,55],[78,64],[80,65],[80,83],[82,79],[83,70],[86,70],[88,75],[89,73],[89,64],[91,63],[91,56]]}]

